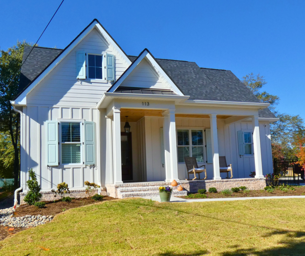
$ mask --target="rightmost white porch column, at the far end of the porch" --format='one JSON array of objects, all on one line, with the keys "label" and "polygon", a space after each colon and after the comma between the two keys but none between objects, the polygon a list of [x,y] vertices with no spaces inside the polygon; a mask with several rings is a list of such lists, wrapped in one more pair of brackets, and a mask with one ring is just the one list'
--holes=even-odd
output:
[{"label": "rightmost white porch column, at the far end of the porch", "polygon": [[252,128],[253,128],[253,151],[255,162],[255,177],[264,178],[262,167],[262,155],[260,151],[260,127],[258,123],[258,115],[252,116]]}]

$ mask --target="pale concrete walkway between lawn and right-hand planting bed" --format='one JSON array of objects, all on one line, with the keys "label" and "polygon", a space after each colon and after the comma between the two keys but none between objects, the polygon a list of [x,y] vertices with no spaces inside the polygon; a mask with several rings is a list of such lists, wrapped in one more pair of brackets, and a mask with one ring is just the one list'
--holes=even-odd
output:
[{"label": "pale concrete walkway between lawn and right-hand planting bed", "polygon": [[[249,200],[249,199],[284,199],[284,198],[305,198],[305,196],[257,196],[257,197],[237,197],[237,198],[202,198],[202,199],[185,199],[179,197],[170,197],[170,202],[173,203],[192,203],[192,202],[211,202],[211,201],[235,201],[235,200]],[[146,198],[147,199],[147,198]],[[151,197],[153,201],[161,202],[160,197]]]}]

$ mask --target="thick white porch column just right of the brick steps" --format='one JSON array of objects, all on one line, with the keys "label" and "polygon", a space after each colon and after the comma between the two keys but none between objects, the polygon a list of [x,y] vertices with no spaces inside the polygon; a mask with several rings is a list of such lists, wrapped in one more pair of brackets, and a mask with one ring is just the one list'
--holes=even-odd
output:
[{"label": "thick white porch column just right of the brick steps", "polygon": [[[166,180],[179,181],[175,111],[169,110],[163,119]],[[170,163],[168,163],[170,162]]]}]

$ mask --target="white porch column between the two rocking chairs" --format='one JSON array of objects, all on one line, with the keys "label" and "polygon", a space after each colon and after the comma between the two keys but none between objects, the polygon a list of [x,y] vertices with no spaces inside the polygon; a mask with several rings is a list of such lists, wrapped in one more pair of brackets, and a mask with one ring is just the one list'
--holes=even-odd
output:
[{"label": "white porch column between the two rocking chairs", "polygon": [[211,141],[213,155],[213,174],[214,180],[221,180],[219,169],[218,137],[217,137],[217,117],[216,114],[210,114]]}]

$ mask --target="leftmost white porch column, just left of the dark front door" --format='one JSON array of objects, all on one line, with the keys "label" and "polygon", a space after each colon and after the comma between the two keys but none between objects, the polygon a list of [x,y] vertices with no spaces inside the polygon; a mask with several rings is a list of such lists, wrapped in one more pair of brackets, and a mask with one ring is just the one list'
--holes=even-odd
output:
[{"label": "leftmost white porch column, just left of the dark front door", "polygon": [[123,184],[121,159],[121,119],[120,108],[113,107],[113,178],[114,184]]}]

